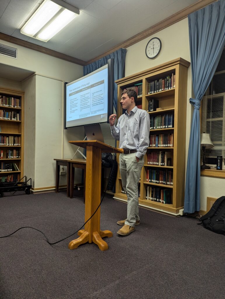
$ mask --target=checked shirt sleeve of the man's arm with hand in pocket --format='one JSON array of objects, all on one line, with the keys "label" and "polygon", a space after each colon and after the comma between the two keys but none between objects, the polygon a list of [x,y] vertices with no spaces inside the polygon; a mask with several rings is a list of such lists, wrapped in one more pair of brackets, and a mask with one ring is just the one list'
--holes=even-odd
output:
[{"label": "checked shirt sleeve of the man's arm with hand in pocket", "polygon": [[[144,111],[144,110],[143,110]],[[147,111],[140,115],[140,137],[136,153],[137,158],[142,158],[149,147],[150,117]]]}]

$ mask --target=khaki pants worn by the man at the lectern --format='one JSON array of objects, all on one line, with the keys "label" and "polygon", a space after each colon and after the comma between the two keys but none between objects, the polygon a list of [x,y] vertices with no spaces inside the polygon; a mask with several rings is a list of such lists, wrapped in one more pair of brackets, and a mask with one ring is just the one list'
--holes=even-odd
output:
[{"label": "khaki pants worn by the man at the lectern", "polygon": [[127,220],[125,224],[133,227],[136,220],[140,220],[138,214],[138,183],[143,165],[144,157],[137,162],[135,152],[120,154],[120,174],[123,189],[127,195]]}]

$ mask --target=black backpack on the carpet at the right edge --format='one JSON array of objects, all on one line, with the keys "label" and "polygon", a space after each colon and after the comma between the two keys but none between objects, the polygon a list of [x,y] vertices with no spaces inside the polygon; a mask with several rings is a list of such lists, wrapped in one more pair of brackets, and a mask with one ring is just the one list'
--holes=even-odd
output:
[{"label": "black backpack on the carpet at the right edge", "polygon": [[199,218],[203,226],[217,234],[225,235],[225,196],[218,198],[208,213]]}]

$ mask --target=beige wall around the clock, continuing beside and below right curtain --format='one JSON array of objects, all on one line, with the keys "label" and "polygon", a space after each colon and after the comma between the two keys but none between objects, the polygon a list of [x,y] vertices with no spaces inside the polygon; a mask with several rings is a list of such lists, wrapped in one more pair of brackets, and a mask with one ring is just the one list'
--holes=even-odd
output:
[{"label": "beige wall around the clock, continuing beside and below right curtain", "polygon": [[[158,37],[162,42],[162,49],[160,54],[155,59],[146,57],[145,48],[147,43],[152,37]],[[188,19],[183,19],[174,25],[169,26],[152,36],[132,45],[127,48],[125,60],[125,76],[143,71],[155,65],[160,65],[163,62],[182,57],[190,62],[189,50],[189,30]],[[189,136],[191,129],[191,120],[193,108],[189,103],[189,98],[192,97],[192,76],[191,67],[188,69],[188,82],[187,82],[187,120],[186,120],[186,161],[189,147]],[[187,164],[187,163],[186,163]],[[206,210],[207,196],[220,197],[223,192],[224,179],[201,177],[200,200],[201,210]]]}]

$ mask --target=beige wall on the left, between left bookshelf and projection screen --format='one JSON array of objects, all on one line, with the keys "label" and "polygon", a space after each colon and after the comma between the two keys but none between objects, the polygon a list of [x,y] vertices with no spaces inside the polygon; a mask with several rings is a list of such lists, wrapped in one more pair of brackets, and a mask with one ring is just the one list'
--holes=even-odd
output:
[{"label": "beige wall on the left, between left bookshelf and projection screen", "polygon": [[[24,174],[31,177],[34,188],[53,187],[53,159],[72,158],[77,147],[68,141],[84,138],[80,128],[63,129],[64,82],[82,77],[83,67],[5,41],[0,43],[18,49],[18,59],[0,55],[0,63],[35,73],[23,82],[0,78],[0,86],[25,91]],[[77,171],[75,183],[79,182],[81,172]],[[60,176],[60,185],[66,185],[66,176]]]}]

